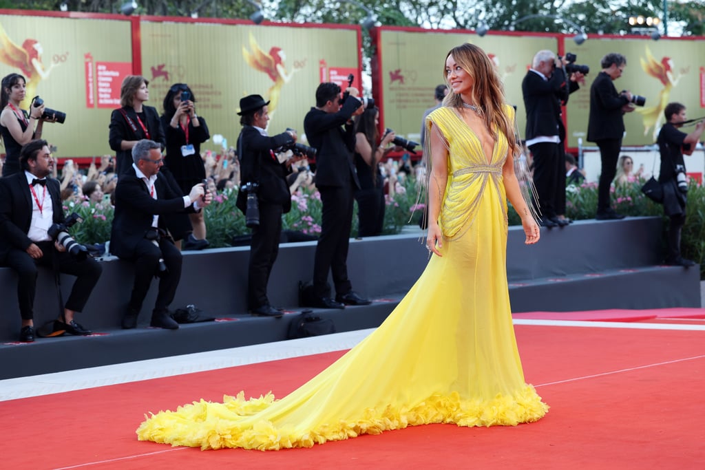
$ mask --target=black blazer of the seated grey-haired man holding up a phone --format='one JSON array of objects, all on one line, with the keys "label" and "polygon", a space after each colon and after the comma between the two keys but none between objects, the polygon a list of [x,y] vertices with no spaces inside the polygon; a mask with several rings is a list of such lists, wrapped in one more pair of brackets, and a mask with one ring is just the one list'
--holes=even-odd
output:
[{"label": "black blazer of the seated grey-haired man holding up a phone", "polygon": [[110,252],[121,258],[132,258],[135,247],[152,227],[152,217],[159,215],[159,227],[167,228],[170,214],[192,212],[192,206],[183,207],[183,196],[168,184],[161,173],[154,182],[157,199],[149,195],[147,185],[137,178],[135,168],[118,179],[115,187],[115,215],[110,234]]}]

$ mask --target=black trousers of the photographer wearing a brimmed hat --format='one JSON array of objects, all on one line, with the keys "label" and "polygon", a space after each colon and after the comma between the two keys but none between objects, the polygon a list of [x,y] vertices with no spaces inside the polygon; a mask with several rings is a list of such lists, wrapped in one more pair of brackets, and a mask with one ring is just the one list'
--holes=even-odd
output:
[{"label": "black trousers of the photographer wearing a brimmed hat", "polygon": [[279,253],[282,211],[281,204],[259,202],[259,227],[252,230],[247,271],[247,304],[250,309],[269,305],[266,286]]}]

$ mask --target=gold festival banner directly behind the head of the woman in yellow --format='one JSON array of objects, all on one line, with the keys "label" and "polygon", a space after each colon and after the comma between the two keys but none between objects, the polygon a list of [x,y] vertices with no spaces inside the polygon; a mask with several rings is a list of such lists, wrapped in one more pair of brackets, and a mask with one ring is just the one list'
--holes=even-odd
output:
[{"label": "gold festival banner directly behind the head of the woman in yellow", "polygon": [[[434,88],[444,82],[446,54],[453,47],[465,42],[476,44],[494,61],[507,100],[517,108],[522,136],[526,128],[522,80],[537,51],[558,48],[552,36],[479,37],[472,32],[380,29],[377,86],[381,89],[384,125],[416,142],[424,111],[434,106]],[[380,96],[379,91],[377,94]]]}]

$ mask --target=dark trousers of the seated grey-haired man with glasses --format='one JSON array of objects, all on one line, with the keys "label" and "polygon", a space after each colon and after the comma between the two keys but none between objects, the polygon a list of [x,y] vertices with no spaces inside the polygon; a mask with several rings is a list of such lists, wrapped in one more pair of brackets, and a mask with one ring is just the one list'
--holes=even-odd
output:
[{"label": "dark trousers of the seated grey-haired man with glasses", "polygon": [[132,295],[130,295],[129,309],[139,311],[142,309],[142,302],[145,302],[149,285],[152,278],[157,273],[159,259],[164,259],[164,264],[168,269],[164,276],[159,278],[159,290],[157,291],[157,302],[154,302],[154,311],[164,311],[176,295],[176,288],[181,279],[181,253],[167,237],[161,237],[159,247],[151,240],[140,240],[135,248],[135,284]]}]

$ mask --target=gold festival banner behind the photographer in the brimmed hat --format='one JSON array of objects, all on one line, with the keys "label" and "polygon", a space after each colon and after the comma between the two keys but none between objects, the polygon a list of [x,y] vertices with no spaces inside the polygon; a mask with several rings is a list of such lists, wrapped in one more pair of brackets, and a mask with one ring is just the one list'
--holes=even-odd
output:
[{"label": "gold festival banner behind the photographer in the brimmed hat", "polygon": [[[286,27],[214,23],[158,23],[145,20],[142,74],[149,80],[149,104],[162,101],[174,83],[186,83],[197,113],[211,135],[235,147],[240,134],[240,98],[260,94],[269,103],[269,133],[294,128],[315,106],[322,80],[359,75],[359,27]],[[300,139],[301,140],[301,139]],[[212,141],[206,149],[219,150]]]}]

